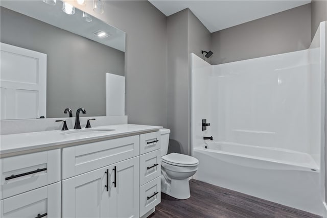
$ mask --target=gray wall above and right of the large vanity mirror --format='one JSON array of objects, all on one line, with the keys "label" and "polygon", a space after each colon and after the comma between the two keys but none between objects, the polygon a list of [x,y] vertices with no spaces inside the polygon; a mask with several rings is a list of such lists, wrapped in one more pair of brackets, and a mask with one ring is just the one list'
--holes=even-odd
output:
[{"label": "gray wall above and right of the large vanity mirror", "polygon": [[128,123],[167,126],[166,16],[148,1],[105,1],[105,12],[92,1],[77,6],[126,32],[126,99]]}]

